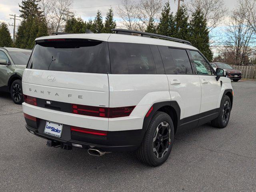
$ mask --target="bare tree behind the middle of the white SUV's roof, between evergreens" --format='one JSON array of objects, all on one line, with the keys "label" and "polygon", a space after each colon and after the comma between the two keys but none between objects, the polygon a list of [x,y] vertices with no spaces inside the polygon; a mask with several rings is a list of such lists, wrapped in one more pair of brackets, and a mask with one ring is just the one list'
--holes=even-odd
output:
[{"label": "bare tree behind the middle of the white SUV's roof, between evergreens", "polygon": [[144,31],[150,20],[159,18],[164,6],[164,0],[122,0],[117,7],[117,13],[122,18],[122,23],[129,30]]}]

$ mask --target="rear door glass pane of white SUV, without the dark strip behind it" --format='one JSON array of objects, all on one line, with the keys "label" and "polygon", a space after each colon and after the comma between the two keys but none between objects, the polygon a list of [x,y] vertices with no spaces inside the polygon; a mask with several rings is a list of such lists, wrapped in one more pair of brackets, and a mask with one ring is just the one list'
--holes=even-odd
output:
[{"label": "rear door glass pane of white SUV, without the dark strip behind it", "polygon": [[169,49],[174,61],[174,74],[192,74],[192,67],[186,50]]}]

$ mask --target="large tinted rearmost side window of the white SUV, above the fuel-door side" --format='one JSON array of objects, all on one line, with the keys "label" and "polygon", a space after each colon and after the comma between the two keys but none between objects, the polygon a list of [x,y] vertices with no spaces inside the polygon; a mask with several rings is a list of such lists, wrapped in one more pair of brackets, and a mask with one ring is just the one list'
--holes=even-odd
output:
[{"label": "large tinted rearmost side window of the white SUV, above the fuel-door side", "polygon": [[109,43],[112,74],[156,74],[156,66],[146,44]]}]

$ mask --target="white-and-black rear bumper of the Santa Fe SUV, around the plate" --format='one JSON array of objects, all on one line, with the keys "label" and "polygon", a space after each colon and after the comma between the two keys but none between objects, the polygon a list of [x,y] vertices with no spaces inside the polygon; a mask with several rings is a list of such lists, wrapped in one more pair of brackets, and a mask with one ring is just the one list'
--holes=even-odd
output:
[{"label": "white-and-black rear bumper of the Santa Fe SUV, around the plate", "polygon": [[[22,103],[23,112],[37,118],[37,122],[25,118],[26,129],[36,136],[69,146],[72,146],[72,143],[80,144],[85,149],[93,146],[106,152],[131,151],[140,146],[145,133],[142,129],[144,120],[142,112],[147,112],[149,107],[147,105],[136,106],[132,112],[133,115],[108,119],[72,114]],[[63,124],[60,138],[44,134],[46,120]],[[70,126],[107,131],[107,136],[71,131]]]}]

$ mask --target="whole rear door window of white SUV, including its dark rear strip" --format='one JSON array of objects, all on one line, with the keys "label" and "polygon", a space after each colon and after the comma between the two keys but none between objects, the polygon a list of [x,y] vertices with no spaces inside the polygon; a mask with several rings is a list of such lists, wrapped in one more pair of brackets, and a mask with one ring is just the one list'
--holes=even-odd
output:
[{"label": "whole rear door window of white SUV, including its dark rear strip", "polygon": [[158,46],[166,74],[192,74],[186,50]]}]

